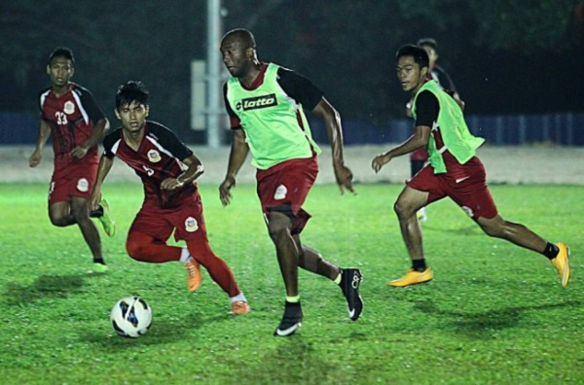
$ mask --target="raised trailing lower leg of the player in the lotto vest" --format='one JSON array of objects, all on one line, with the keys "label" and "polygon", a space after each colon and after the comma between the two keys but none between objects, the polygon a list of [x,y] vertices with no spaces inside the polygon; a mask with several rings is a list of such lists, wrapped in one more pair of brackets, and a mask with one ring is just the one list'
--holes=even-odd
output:
[{"label": "raised trailing lower leg of the player in the lotto vest", "polygon": [[298,265],[310,272],[325,276],[339,285],[347,301],[349,318],[356,321],[363,311],[363,300],[359,295],[359,285],[363,280],[359,269],[343,268],[333,265],[331,262],[322,258],[321,253],[310,246],[302,244],[300,234],[294,234],[294,243],[300,250]]}]

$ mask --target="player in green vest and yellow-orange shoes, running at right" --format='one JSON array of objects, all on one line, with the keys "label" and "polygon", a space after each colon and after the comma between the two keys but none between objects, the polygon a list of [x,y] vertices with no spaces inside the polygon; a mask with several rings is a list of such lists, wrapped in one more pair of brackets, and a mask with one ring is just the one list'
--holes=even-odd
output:
[{"label": "player in green vest and yellow-orange shoes, running at right", "polygon": [[485,181],[485,169],[475,156],[484,139],[472,136],[456,101],[436,81],[427,81],[429,58],[423,48],[407,45],[397,51],[397,75],[402,89],[413,97],[416,132],[401,145],[376,156],[371,162],[378,172],[394,157],[426,146],[430,164],[406,184],[394,209],[412,268],[402,278],[388,283],[404,287],[428,282],[432,269],[426,266],[422,233],[416,211],[434,201],[450,197],[486,234],[537,251],[557,268],[562,286],[570,278],[569,250],[564,243],[551,244],[527,227],[503,219]]}]

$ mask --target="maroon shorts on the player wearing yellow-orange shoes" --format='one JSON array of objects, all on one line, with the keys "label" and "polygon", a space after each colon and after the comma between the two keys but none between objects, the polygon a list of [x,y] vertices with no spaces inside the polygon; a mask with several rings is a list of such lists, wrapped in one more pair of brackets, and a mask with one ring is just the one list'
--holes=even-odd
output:
[{"label": "maroon shorts on the player wearing yellow-orange shoes", "polygon": [[[461,170],[463,174],[460,174]],[[474,156],[461,164],[458,171],[456,177],[449,173],[434,174],[434,169],[428,164],[406,184],[414,190],[429,192],[426,204],[450,197],[474,220],[495,217],[497,207],[486,186],[485,167],[481,160]]]}]

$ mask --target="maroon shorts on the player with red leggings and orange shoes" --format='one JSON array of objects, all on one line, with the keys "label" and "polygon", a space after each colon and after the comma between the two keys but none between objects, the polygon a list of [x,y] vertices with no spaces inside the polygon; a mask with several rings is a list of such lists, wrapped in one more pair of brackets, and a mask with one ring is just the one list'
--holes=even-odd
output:
[{"label": "maroon shorts on the player with red leggings and orange shoes", "polygon": [[199,192],[181,199],[172,208],[161,208],[158,199],[146,199],[128,233],[141,232],[166,241],[175,232],[175,240],[207,240],[203,204]]}]

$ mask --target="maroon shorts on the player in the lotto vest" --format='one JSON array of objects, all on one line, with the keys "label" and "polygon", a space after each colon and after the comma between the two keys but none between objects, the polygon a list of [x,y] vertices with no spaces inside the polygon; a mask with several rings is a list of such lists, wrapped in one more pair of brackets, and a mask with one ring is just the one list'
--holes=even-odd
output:
[{"label": "maroon shorts on the player in the lotto vest", "polygon": [[262,212],[285,213],[292,219],[291,233],[300,234],[310,219],[302,205],[317,175],[316,156],[286,160],[267,170],[258,170],[256,180]]}]

